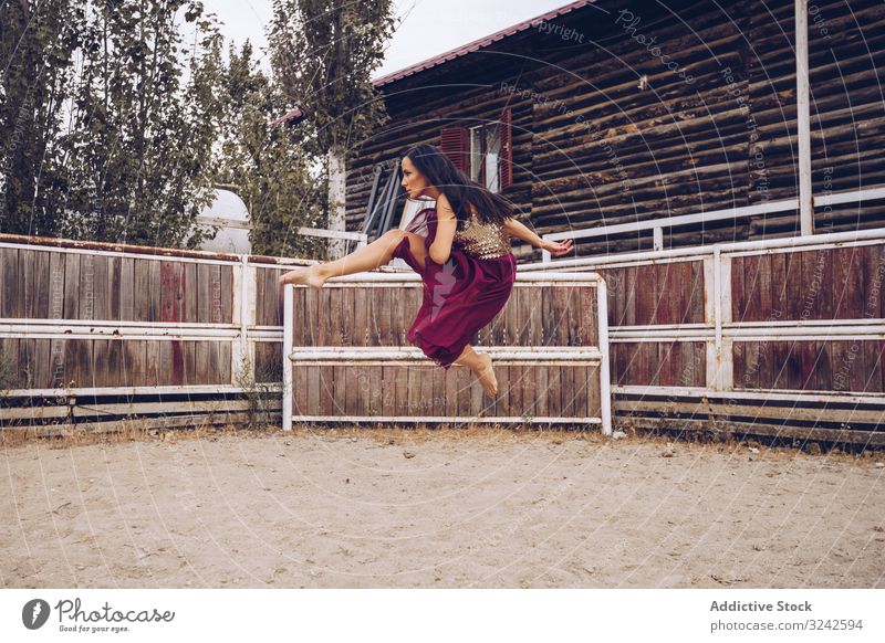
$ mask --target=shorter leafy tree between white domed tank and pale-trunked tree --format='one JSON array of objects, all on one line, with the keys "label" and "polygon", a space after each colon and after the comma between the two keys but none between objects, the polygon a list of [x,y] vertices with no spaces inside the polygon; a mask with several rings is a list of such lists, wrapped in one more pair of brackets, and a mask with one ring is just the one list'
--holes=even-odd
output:
[{"label": "shorter leafy tree between white domed tank and pale-trunked tree", "polygon": [[315,240],[281,234],[317,225],[324,210],[317,171],[311,171],[310,129],[304,123],[268,126],[285,99],[279,85],[257,71],[248,41],[240,52],[231,48],[228,57],[216,181],[231,186],[249,209],[252,252],[317,256],[321,249]]}]

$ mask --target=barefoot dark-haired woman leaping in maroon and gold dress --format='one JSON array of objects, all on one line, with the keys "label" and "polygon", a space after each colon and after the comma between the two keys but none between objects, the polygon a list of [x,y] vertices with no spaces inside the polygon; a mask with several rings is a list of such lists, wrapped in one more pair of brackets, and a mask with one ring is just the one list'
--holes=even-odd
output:
[{"label": "barefoot dark-haired woman leaping in maroon and gold dress", "polygon": [[403,188],[409,199],[435,199],[436,208],[421,210],[406,230],[391,230],[337,261],[285,273],[280,283],[322,288],[330,277],[404,260],[424,282],[424,303],[408,340],[445,369],[466,366],[486,394],[494,397],[491,358],[476,352],[469,341],[510,297],[517,274],[510,236],[553,256],[570,252],[572,241],[543,241],[512,219],[507,200],[471,181],[430,145],[419,145],[403,158]]}]

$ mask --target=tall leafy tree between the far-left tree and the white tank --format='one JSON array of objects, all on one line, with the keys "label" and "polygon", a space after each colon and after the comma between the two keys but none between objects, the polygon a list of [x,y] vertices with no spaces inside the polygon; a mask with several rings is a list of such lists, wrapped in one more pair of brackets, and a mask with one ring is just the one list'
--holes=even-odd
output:
[{"label": "tall leafy tree between the far-left tree and the white tank", "polygon": [[[181,9],[194,29],[189,48],[183,45]],[[72,126],[62,140],[70,186],[61,232],[196,245],[201,235],[190,231],[214,196],[217,25],[198,1],[104,0],[90,6],[81,34]]]}]

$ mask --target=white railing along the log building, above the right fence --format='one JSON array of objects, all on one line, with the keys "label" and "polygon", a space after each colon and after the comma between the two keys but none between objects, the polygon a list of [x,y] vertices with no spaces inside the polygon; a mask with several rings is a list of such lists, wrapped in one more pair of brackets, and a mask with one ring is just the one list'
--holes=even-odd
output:
[{"label": "white railing along the log building, above the right fence", "polygon": [[[829,207],[840,203],[852,203],[885,199],[885,187],[867,188],[864,190],[844,190],[840,192],[827,192],[814,197],[814,207]],[[664,250],[664,229],[677,228],[679,225],[690,225],[694,223],[708,223],[711,221],[725,221],[728,219],[746,219],[759,214],[772,212],[790,212],[799,209],[799,199],[784,199],[781,201],[770,201],[756,205],[741,208],[727,208],[725,210],[711,210],[709,212],[698,212],[696,214],[681,214],[679,217],[667,217],[665,219],[650,219],[647,221],[636,221],[632,223],[617,223],[615,225],[600,225],[597,228],[584,228],[580,230],[566,230],[563,232],[549,232],[542,235],[545,241],[559,241],[562,239],[589,239],[622,234],[625,232],[639,232],[650,230],[653,235],[653,252]],[[799,239],[799,238],[798,238]],[[542,263],[550,263],[551,255],[548,251],[542,251]]]}]

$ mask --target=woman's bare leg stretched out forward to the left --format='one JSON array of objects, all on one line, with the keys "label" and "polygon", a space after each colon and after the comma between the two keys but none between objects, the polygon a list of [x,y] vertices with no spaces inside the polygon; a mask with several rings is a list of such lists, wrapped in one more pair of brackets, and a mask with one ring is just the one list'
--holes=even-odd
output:
[{"label": "woman's bare leg stretched out forward to the left", "polygon": [[329,277],[373,271],[391,263],[396,246],[399,245],[399,242],[405,238],[409,240],[409,250],[412,250],[413,256],[415,256],[423,267],[427,257],[424,236],[412,232],[405,232],[404,230],[388,230],[381,239],[373,241],[365,247],[352,252],[347,256],[288,272],[280,277],[280,283],[304,284],[314,288],[322,288]]}]

